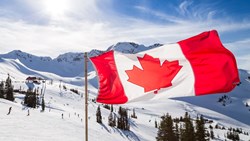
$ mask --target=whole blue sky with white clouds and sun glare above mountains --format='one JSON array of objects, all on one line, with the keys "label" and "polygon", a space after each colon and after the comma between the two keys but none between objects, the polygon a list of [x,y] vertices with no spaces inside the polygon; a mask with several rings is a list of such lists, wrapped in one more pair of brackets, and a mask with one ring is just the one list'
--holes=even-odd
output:
[{"label": "whole blue sky with white clouds and sun glare above mountains", "polygon": [[173,43],[216,29],[250,70],[250,4],[245,0],[1,0],[0,53],[56,57],[117,42]]}]

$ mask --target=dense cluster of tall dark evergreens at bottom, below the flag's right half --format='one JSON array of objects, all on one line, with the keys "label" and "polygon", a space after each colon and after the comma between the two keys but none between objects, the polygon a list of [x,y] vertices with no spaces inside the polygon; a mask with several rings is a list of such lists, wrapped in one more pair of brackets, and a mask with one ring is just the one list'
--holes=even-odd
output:
[{"label": "dense cluster of tall dark evergreens at bottom, below the flag's right half", "polygon": [[166,114],[161,117],[158,127],[157,141],[207,141],[209,135],[214,137],[213,131],[206,131],[203,116],[197,117],[194,126],[190,115],[186,112],[184,117],[172,119]]}]

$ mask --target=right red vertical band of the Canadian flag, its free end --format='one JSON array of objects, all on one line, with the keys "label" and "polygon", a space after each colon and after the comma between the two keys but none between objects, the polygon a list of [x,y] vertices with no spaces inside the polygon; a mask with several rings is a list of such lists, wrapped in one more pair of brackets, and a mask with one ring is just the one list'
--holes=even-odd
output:
[{"label": "right red vertical band of the Canadian flag, its free end", "polygon": [[195,77],[195,94],[231,91],[240,82],[235,58],[213,30],[178,42]]}]

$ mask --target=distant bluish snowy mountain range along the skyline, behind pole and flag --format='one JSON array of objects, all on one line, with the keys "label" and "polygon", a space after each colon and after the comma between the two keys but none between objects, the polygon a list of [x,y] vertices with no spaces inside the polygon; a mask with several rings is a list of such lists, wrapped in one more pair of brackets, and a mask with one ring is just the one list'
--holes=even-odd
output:
[{"label": "distant bluish snowy mountain range along the skyline, behind pole and flag", "polygon": [[[97,56],[109,50],[115,50],[123,53],[138,53],[140,51],[159,47],[161,45],[162,44],[154,44],[146,47],[132,42],[119,42],[104,51],[93,49],[88,52],[88,57]],[[84,53],[69,52],[52,59],[51,57],[40,57],[22,52],[20,50],[14,50],[7,54],[0,54],[0,58],[19,60],[30,69],[50,72],[63,77],[83,76]],[[92,71],[92,65],[89,63],[88,66],[88,70]]]}]

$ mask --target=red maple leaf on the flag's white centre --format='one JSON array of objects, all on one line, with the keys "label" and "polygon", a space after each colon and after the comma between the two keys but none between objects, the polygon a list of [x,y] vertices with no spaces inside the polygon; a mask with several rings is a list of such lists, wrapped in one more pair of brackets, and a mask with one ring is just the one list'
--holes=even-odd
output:
[{"label": "red maple leaf on the flag's white centre", "polygon": [[144,88],[144,92],[155,91],[157,93],[161,88],[172,86],[171,81],[180,71],[182,66],[179,61],[165,60],[162,65],[159,58],[153,58],[145,54],[143,57],[137,57],[142,69],[133,66],[132,70],[126,70],[128,81]]}]

